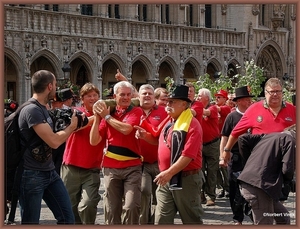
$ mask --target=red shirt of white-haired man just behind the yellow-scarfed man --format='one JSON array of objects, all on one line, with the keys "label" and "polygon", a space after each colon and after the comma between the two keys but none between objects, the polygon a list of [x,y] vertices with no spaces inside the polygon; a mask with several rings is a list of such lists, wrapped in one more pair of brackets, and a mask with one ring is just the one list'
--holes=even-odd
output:
[{"label": "red shirt of white-haired man just behind the yellow-scarfed man", "polygon": [[210,142],[220,136],[218,110],[216,106],[209,106],[210,116],[203,116],[202,130],[203,130],[203,143]]}]

